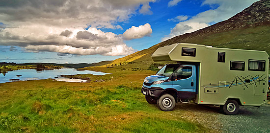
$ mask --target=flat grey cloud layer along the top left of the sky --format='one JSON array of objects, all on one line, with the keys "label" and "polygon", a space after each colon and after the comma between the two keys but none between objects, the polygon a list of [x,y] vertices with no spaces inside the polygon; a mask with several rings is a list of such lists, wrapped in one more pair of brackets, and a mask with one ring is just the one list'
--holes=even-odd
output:
[{"label": "flat grey cloud layer along the top left of the sky", "polygon": [[[0,20],[9,26],[34,22],[51,26],[115,28],[140,5],[155,0],[14,0],[1,1]],[[12,23],[11,23],[12,22]]]}]

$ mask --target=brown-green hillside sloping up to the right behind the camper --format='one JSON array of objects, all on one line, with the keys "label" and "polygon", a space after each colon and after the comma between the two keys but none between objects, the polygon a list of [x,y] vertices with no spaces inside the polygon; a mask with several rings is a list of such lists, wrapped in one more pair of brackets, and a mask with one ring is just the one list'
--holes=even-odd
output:
[{"label": "brown-green hillside sloping up to the right behind the camper", "polygon": [[147,69],[151,55],[161,46],[174,43],[205,44],[214,47],[264,50],[270,54],[270,0],[253,3],[230,19],[206,28],[179,35],[148,49],[116,59],[104,65],[126,65]]}]

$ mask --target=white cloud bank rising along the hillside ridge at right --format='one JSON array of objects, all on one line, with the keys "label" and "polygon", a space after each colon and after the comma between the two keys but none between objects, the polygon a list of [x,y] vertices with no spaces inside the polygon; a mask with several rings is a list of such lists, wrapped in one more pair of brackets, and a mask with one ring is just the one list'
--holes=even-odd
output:
[{"label": "white cloud bank rising along the hillside ridge at right", "polygon": [[169,35],[162,38],[162,41],[207,27],[210,23],[227,20],[255,1],[258,0],[245,0],[245,2],[243,0],[205,0],[202,5],[218,4],[219,6],[216,9],[201,12],[188,21],[179,22],[171,29]]}]

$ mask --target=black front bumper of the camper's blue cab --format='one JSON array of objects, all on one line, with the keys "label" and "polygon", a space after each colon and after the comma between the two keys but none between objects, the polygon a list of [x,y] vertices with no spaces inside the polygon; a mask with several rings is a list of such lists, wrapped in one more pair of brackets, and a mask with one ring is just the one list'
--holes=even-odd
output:
[{"label": "black front bumper of the camper's blue cab", "polygon": [[145,88],[143,86],[141,87],[141,93],[143,93],[144,95],[153,96],[156,98],[159,98],[163,91],[164,89],[162,88]]}]

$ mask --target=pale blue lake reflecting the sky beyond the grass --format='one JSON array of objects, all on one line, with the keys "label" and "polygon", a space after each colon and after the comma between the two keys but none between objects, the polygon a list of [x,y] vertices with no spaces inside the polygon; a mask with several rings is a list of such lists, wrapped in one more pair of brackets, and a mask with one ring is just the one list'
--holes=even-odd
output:
[{"label": "pale blue lake reflecting the sky beyond the grass", "polygon": [[0,83],[13,82],[10,81],[10,79],[19,79],[21,81],[25,81],[25,80],[39,80],[49,78],[56,79],[57,81],[85,82],[85,80],[60,77],[60,75],[76,75],[76,74],[105,75],[108,73],[90,70],[76,70],[73,68],[61,68],[42,71],[37,71],[35,69],[21,69],[15,71],[8,71],[7,73],[5,73],[5,75],[3,73],[0,73]]}]

